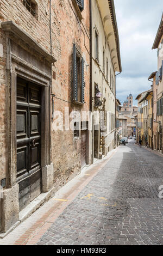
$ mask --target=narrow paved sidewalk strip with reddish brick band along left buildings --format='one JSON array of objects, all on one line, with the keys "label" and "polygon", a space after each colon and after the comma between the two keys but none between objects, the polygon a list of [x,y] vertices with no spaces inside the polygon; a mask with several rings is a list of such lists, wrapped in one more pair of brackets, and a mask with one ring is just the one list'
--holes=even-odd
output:
[{"label": "narrow paved sidewalk strip with reddish brick band along left buildings", "polygon": [[0,240],[0,245],[34,245],[45,234],[62,211],[77,197],[80,191],[89,184],[108,160],[116,153],[112,150],[103,160],[97,160],[84,168],[76,178],[62,187],[55,196],[41,206],[27,220],[22,222],[11,233]]}]

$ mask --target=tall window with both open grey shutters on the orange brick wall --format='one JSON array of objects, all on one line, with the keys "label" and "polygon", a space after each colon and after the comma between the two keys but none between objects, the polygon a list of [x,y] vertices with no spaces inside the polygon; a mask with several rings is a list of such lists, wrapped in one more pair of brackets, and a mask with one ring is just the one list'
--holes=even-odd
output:
[{"label": "tall window with both open grey shutters on the orange brick wall", "polygon": [[84,59],[73,45],[73,100],[84,103]]}]

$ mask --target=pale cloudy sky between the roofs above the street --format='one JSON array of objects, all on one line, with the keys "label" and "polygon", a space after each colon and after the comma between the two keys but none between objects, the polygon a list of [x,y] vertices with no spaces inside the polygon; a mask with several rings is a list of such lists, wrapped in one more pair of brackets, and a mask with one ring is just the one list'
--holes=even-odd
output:
[{"label": "pale cloudy sky between the roofs above the street", "polygon": [[[116,97],[121,103],[148,90],[148,77],[157,70],[157,51],[152,50],[163,11],[162,0],[114,0],[120,36],[122,74],[117,76]],[[137,104],[137,101],[134,101]]]}]

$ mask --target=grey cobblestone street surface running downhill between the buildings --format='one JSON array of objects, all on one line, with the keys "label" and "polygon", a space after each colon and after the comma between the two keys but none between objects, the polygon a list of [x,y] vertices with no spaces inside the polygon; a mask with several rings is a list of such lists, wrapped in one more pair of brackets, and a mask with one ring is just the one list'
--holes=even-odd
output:
[{"label": "grey cobblestone street surface running downhill between the buildings", "polygon": [[163,158],[122,145],[37,245],[162,245],[160,185]]}]

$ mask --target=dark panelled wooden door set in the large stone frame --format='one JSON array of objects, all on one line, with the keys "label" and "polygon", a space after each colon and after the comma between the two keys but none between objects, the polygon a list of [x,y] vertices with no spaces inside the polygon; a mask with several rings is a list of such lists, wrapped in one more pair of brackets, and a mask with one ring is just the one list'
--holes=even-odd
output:
[{"label": "dark panelled wooden door set in the large stone frame", "polygon": [[17,182],[20,210],[41,193],[41,87],[17,78]]}]

